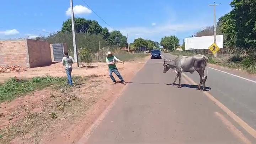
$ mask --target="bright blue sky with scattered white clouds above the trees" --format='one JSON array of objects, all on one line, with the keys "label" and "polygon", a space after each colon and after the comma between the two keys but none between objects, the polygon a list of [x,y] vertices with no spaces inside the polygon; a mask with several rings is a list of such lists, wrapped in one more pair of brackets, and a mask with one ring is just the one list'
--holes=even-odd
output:
[{"label": "bright blue sky with scattered white clouds above the trees", "polygon": [[[160,42],[175,35],[180,41],[213,25],[212,0],[84,0],[115,30],[129,34],[129,43],[142,37]],[[231,10],[231,0],[216,0],[217,20]],[[82,0],[73,0],[76,17],[107,27]],[[0,9],[0,39],[36,37],[61,29],[70,16],[69,0],[4,0]]]}]

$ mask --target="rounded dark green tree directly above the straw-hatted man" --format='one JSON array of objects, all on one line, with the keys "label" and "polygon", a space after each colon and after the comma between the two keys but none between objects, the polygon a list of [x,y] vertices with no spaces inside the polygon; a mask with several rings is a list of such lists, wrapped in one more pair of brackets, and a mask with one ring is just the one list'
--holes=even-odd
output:
[{"label": "rounded dark green tree directly above the straw-hatted man", "polygon": [[113,46],[127,47],[127,38],[120,31],[112,31],[107,40]]}]

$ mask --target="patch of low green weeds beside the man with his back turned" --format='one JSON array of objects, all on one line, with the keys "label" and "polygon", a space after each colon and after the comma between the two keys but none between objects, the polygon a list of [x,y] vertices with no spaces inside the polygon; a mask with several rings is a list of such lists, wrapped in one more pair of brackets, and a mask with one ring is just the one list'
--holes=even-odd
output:
[{"label": "patch of low green weeds beside the man with his back turned", "polygon": [[[82,78],[80,76],[73,77],[74,84],[77,84],[81,80]],[[41,90],[49,86],[52,86],[53,89],[66,89],[70,87],[67,84],[66,77],[44,76],[35,77],[30,80],[11,78],[0,85],[0,103],[13,100],[17,96],[22,96],[29,92]]]}]

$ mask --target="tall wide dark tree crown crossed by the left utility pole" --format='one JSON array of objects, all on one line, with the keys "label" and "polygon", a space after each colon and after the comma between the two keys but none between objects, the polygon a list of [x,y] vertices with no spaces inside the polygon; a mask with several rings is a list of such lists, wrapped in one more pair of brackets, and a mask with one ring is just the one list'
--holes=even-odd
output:
[{"label": "tall wide dark tree crown crossed by the left utility pole", "polygon": [[[86,20],[85,18],[75,18],[76,33],[99,34],[103,28],[95,20]],[[62,32],[72,32],[71,19],[64,21],[62,24]]]}]

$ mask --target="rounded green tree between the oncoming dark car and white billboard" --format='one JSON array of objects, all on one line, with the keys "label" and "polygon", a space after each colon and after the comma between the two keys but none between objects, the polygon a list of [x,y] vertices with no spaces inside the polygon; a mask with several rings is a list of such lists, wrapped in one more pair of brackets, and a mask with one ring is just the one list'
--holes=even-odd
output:
[{"label": "rounded green tree between the oncoming dark car and white billboard", "polygon": [[164,49],[173,50],[174,43],[175,43],[175,49],[176,49],[179,46],[179,42],[180,40],[176,36],[164,37],[164,38],[161,38],[160,46],[163,46]]}]

